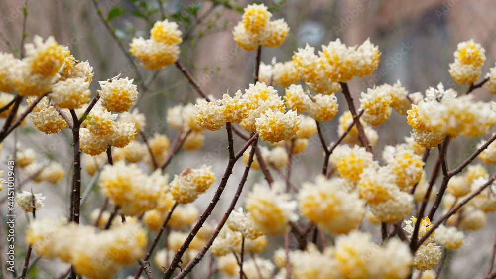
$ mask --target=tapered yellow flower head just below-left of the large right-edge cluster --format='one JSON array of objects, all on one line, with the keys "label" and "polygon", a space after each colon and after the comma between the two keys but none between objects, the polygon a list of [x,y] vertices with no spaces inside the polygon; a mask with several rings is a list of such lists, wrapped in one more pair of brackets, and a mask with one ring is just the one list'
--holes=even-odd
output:
[{"label": "tapered yellow flower head just below-left of the large right-edge cluster", "polygon": [[384,160],[387,162],[386,168],[396,177],[395,183],[402,191],[410,191],[422,177],[424,162],[422,157],[411,149],[386,146]]}]

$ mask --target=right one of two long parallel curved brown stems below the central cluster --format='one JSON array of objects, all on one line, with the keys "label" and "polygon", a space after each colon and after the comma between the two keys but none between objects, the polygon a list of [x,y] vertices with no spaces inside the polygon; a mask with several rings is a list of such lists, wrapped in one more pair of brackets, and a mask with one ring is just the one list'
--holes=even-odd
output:
[{"label": "right one of two long parallel curved brown stems below the central cluster", "polygon": [[[217,225],[217,227],[215,228],[215,230],[213,231],[212,235],[210,236],[210,238],[208,239],[208,241],[205,243],[205,245],[203,246],[203,248],[200,250],[200,252],[198,253],[198,255],[196,255],[196,257],[194,257],[193,260],[191,260],[187,265],[186,267],[183,269],[183,271],[181,271],[176,277],[175,279],[181,279],[181,278],[184,278],[189,272],[191,272],[191,270],[193,269],[193,267],[198,264],[201,259],[203,259],[203,257],[205,256],[205,254],[207,253],[208,249],[210,249],[210,246],[212,246],[212,243],[214,242],[215,238],[217,237],[217,235],[219,234],[220,230],[222,229],[222,227],[224,226],[224,224],[226,223],[227,221],[227,218],[229,217],[229,215],[231,214],[231,212],[234,210],[234,208],[236,207],[236,203],[238,202],[238,199],[240,198],[240,195],[241,195],[241,192],[243,191],[243,186],[245,185],[245,182],[247,180],[247,177],[248,177],[248,172],[250,170],[250,166],[251,166],[251,163],[253,162],[253,156],[254,156],[254,152],[255,152],[255,148],[254,146],[257,144],[257,140],[258,140],[258,134],[254,134],[253,137],[252,137],[252,140],[250,139],[248,142],[250,142],[248,144],[245,144],[245,146],[243,146],[242,150],[243,149],[247,149],[248,146],[250,144],[252,144],[252,148],[251,148],[251,151],[250,151],[250,154],[249,154],[249,157],[248,157],[248,162],[246,164],[246,167],[245,167],[245,171],[243,172],[243,176],[241,177],[241,181],[240,181],[240,184],[238,185],[238,189],[236,190],[236,194],[234,195],[233,197],[233,200],[231,201],[231,204],[229,205],[229,208],[226,210],[226,213],[224,213],[224,216],[222,217],[222,219],[220,220],[219,224]],[[235,160],[239,159],[243,153],[245,151],[242,152],[242,150],[240,150],[234,157]]]}]

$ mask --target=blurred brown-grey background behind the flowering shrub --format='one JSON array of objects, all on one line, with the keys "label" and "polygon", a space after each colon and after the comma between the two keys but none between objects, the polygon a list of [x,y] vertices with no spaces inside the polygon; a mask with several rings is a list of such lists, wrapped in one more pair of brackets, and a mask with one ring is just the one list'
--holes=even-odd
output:
[{"label": "blurred brown-grey background behind the flowering shrub", "polygon": [[[76,59],[88,60],[95,72],[92,94],[100,88],[96,82],[98,80],[106,80],[119,73],[121,77],[135,78],[139,81],[136,84],[139,84],[140,92],[136,107],[146,115],[146,134],[151,137],[159,132],[172,140],[178,132],[166,124],[167,109],[179,103],[194,103],[199,95],[174,65],[160,71],[145,70],[141,66],[134,68],[120,44],[124,50],[128,50],[133,37],[149,38],[149,30],[160,18],[159,11],[162,10],[169,20],[180,25],[184,35],[180,60],[205,91],[214,98],[220,98],[228,90],[231,93],[243,91],[253,80],[256,52],[237,47],[231,32],[241,20],[242,8],[252,1],[165,0],[159,7],[160,2],[100,0],[95,6],[93,0],[0,1],[0,51],[19,50],[24,22],[20,7],[27,4],[29,15],[25,21],[25,42],[31,43],[36,34],[43,38],[54,36],[59,43],[69,46]],[[474,39],[486,50],[483,75],[495,65],[496,2],[492,0],[264,0],[257,3],[264,3],[273,13],[272,19],[284,18],[291,28],[281,47],[263,48],[262,61],[265,64],[270,64],[274,58],[278,62],[291,60],[293,53],[306,43],[320,50],[322,44],[327,45],[337,38],[347,45],[361,44],[370,38],[373,44],[379,46],[382,56],[378,69],[371,76],[349,82],[357,104],[362,91],[374,85],[393,84],[397,80],[410,92],[424,92],[439,82],[446,88],[464,92],[467,86],[456,84],[448,73],[448,64],[453,62],[456,45],[462,41]],[[97,8],[101,9],[104,16],[108,16],[109,11],[116,11],[108,21],[115,35],[109,32],[98,17]],[[480,80],[483,78],[481,76]],[[284,88],[276,89],[281,95],[284,94]],[[336,95],[341,104],[339,116],[347,107],[340,93]],[[477,89],[474,95],[484,101],[493,97],[485,89]],[[338,116],[324,125],[327,142],[337,138]],[[404,116],[393,111],[391,119],[378,127],[377,131],[380,137],[374,151],[380,154],[385,145],[397,144],[409,136],[410,127]],[[22,147],[37,150],[39,157],[68,166],[72,157],[69,132],[63,130],[55,135],[40,135],[41,132],[28,124],[15,136]],[[181,151],[167,172],[177,174],[186,167],[206,163],[213,156],[214,171],[217,177],[221,177],[227,162],[223,133],[223,130],[215,133],[206,131],[204,146],[195,151]],[[2,158],[11,154],[13,138],[10,136],[5,141]],[[450,164],[456,165],[466,158],[479,140],[458,137],[448,151]],[[243,144],[239,138],[235,138],[235,142],[238,147]],[[320,142],[314,137],[310,140],[307,152],[296,159],[293,175],[296,185],[313,180],[320,173],[322,151],[319,145]],[[4,163],[5,159],[1,162],[2,169]],[[429,164],[432,163],[430,160]],[[235,168],[229,189],[224,194],[227,198],[221,199],[212,219],[218,220],[229,204],[242,169],[241,164]],[[490,171],[492,173],[494,169]],[[69,167],[67,173],[70,173]],[[22,173],[19,175],[22,176]],[[84,175],[83,187],[89,181],[89,176],[86,173]],[[260,171],[250,173],[249,183],[254,182],[264,182]],[[47,198],[49,208],[40,211],[40,216],[56,217],[66,212],[67,185],[70,185],[70,175],[57,186],[43,183],[29,185],[35,192],[46,193],[47,197],[58,197],[50,201]],[[197,201],[200,210],[202,204],[209,202],[215,185]],[[5,195],[4,192],[0,196]],[[86,216],[92,209],[99,207],[103,200],[98,191],[92,195],[92,201],[83,208]],[[467,244],[470,245],[449,255],[453,257],[446,261],[449,267],[442,275],[443,278],[484,276],[494,239],[494,221],[494,214],[489,214],[486,227],[467,236],[467,242],[470,242]],[[41,261],[43,265],[52,264],[51,261]],[[58,266],[54,269],[57,270]],[[60,270],[65,269],[63,267]],[[50,276],[47,275],[47,278]]]}]

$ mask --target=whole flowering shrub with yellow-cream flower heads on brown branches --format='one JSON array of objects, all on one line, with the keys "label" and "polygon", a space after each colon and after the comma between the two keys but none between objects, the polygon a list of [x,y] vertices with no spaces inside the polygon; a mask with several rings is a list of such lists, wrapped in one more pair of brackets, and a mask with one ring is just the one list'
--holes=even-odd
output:
[{"label": "whole flowering shrub with yellow-cream flower heads on brown branches", "polygon": [[[213,1],[213,8],[234,8],[227,2]],[[53,36],[36,35],[21,52],[0,53],[0,141],[23,137],[16,129],[30,127],[30,119],[37,137],[70,135],[73,151],[70,162],[47,162],[37,144],[16,145],[0,170],[0,190],[9,193],[1,206],[8,204],[10,214],[28,212],[29,219],[17,232],[27,253],[22,271],[8,269],[14,275],[45,269],[36,256],[58,259],[66,267],[62,277],[71,279],[179,279],[192,272],[202,278],[435,278],[448,251],[462,248],[467,234],[483,229],[496,211],[496,103],[481,101],[491,94],[479,97],[496,92],[496,66],[481,76],[485,50],[474,40],[459,43],[449,64],[451,77],[469,85],[466,92],[438,83],[409,93],[398,80],[353,96],[348,82],[377,69],[381,46],[373,39],[356,46],[335,39],[317,53],[306,44],[294,49],[292,61],[265,64],[262,51],[284,43],[290,28],[284,19],[272,19],[276,13],[268,6],[249,4],[240,9],[232,37],[244,51],[256,51],[254,80],[216,98],[220,94],[205,92],[182,63],[182,43],[194,24],[182,30],[162,9],[138,12],[160,20],[150,21],[149,39],[133,37],[124,45],[109,25],[122,10],[112,8],[105,18],[94,4],[133,65],[135,60],[150,70],[149,80],[176,67],[197,99],[164,113],[176,130],[170,140],[171,134],[147,131],[155,119],[136,108],[150,94],[139,68],[136,76],[95,75],[88,61],[79,60],[84,57],[74,57]],[[93,80],[100,89],[90,89]],[[376,127],[398,129],[385,125],[392,117],[411,137],[375,146],[383,131]],[[324,123],[334,118],[333,138]],[[225,139],[224,157],[168,168],[181,149],[189,156],[211,135]],[[453,164],[448,155],[458,137],[479,143]],[[312,158],[321,172],[296,183],[299,168],[308,167],[296,158],[310,149],[321,153]],[[244,165],[240,175],[233,175],[235,165]],[[14,167],[26,180],[13,183]],[[255,182],[248,180],[253,173],[259,174]],[[70,183],[62,183],[64,177]],[[34,183],[34,190],[21,190],[42,181],[68,193],[65,204]],[[235,192],[231,200],[227,188]],[[220,199],[230,203],[227,209],[218,209]],[[53,207],[66,213],[48,218]],[[214,209],[225,210],[220,220],[209,218]],[[1,247],[12,247],[5,243],[13,245],[0,241],[2,253]],[[496,277],[495,251],[486,278]]]}]

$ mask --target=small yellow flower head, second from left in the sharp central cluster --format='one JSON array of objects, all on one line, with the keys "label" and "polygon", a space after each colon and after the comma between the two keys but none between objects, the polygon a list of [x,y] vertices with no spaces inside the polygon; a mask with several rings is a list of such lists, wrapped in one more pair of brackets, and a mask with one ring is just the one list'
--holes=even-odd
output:
[{"label": "small yellow flower head, second from left in the sharp central cluster", "polygon": [[221,106],[222,117],[227,122],[240,123],[248,116],[248,102],[242,95],[241,90],[238,90],[234,98],[224,94],[221,100],[217,100],[217,104]]}]

